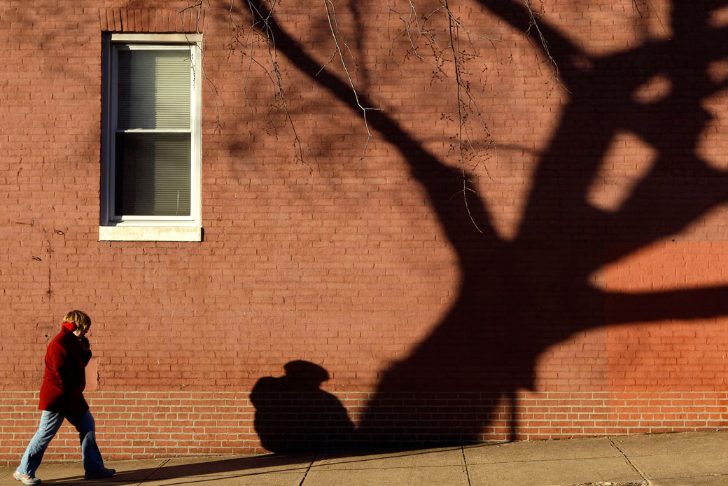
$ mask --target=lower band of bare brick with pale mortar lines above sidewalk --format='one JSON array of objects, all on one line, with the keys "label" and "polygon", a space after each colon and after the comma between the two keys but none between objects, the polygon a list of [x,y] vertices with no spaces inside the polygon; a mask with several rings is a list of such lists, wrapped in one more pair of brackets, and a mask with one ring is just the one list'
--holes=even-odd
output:
[{"label": "lower band of bare brick with pale mortar lines above sidewalk", "polygon": [[[100,449],[105,457],[115,459],[268,452],[253,427],[256,408],[249,396],[247,392],[87,393]],[[363,392],[336,396],[355,423],[374,398],[373,393]],[[422,400],[412,393],[392,394],[389,398],[401,408],[422,407]],[[515,399],[515,409],[510,398]],[[277,399],[285,402],[277,409],[285,430],[271,430],[269,436],[263,434],[272,450],[284,441],[294,449],[307,445],[312,424],[326,427],[321,421],[321,417],[328,417],[325,412],[315,418],[301,414],[301,409],[320,405],[320,394],[281,393]],[[714,430],[728,424],[726,392],[523,392],[509,399],[478,392],[462,392],[457,400],[440,397],[440,407],[431,410],[432,425],[442,431],[437,442],[471,439],[472,431],[460,428],[462,414],[470,409],[490,410],[483,417],[487,426],[478,434],[480,441],[657,434]],[[3,462],[12,465],[23,455],[38,426],[39,415],[33,406],[37,393],[2,392],[0,400],[0,431],[7,447]],[[286,418],[294,407],[295,418]],[[364,443],[367,438],[354,433],[347,447],[357,441]],[[53,439],[45,460],[79,459],[78,435],[66,423]]]}]

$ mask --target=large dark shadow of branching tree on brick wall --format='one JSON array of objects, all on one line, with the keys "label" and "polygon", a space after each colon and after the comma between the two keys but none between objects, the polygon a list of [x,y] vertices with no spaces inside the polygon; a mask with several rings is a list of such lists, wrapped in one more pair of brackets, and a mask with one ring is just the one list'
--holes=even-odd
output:
[{"label": "large dark shadow of branching tree on brick wall", "polygon": [[[312,82],[360,117],[359,106],[374,106],[365,93],[355,98],[347,83],[322,70],[267,17],[264,4],[253,3],[261,14],[256,20],[266,18],[278,52]],[[478,441],[498,404],[487,398],[491,394],[510,404],[507,420],[515,438],[515,393],[534,389],[537,358],[550,346],[606,325],[728,314],[728,286],[628,294],[605,291],[590,280],[609,262],[683,230],[728,200],[728,173],[711,168],[696,149],[710,121],[701,103],[726,87],[708,74],[710,63],[728,55],[728,28],[710,22],[711,13],[726,3],[676,0],[671,39],[601,57],[539,20],[549,43],[546,54],[558,64],[569,99],[539,157],[521,226],[510,241],[489,224],[486,200],[470,196],[465,208],[452,197],[462,192],[461,174],[395,119],[379,111],[367,115],[368,126],[397,148],[427,192],[456,251],[462,280],[443,320],[384,373],[358,429],[362,443]],[[480,4],[537,36],[521,2]],[[639,101],[636,91],[658,74],[669,79],[670,93]],[[586,195],[620,130],[652,146],[657,160],[617,210],[603,211],[587,203]],[[482,392],[483,400],[464,403],[463,391]],[[411,398],[401,400],[403,393]]]}]

